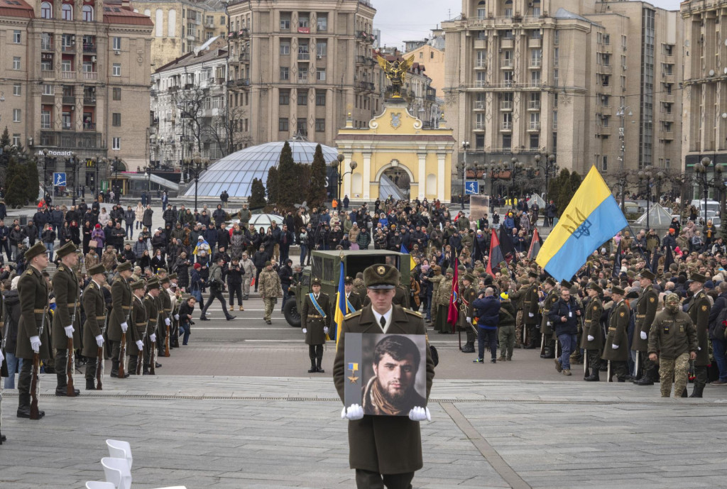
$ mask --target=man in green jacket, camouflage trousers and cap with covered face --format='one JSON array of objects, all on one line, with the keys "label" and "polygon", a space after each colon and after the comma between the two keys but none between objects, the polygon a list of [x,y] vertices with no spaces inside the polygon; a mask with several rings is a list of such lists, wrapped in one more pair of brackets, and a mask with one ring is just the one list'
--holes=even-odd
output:
[{"label": "man in green jacket, camouflage trousers and cap with covered face", "polygon": [[648,353],[659,355],[662,397],[669,397],[672,378],[674,397],[682,397],[687,384],[689,353],[696,352],[698,347],[697,334],[690,316],[678,309],[679,299],[676,294],[667,296],[667,299],[675,304],[675,312],[664,309],[654,318],[648,334]]}]

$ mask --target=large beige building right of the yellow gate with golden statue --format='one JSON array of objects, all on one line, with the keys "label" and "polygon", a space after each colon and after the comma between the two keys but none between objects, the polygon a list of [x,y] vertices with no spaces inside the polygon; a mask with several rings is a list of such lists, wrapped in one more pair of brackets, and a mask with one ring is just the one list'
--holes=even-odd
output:
[{"label": "large beige building right of the yellow gate with golden statue", "polygon": [[623,147],[624,171],[678,166],[678,12],[576,0],[465,0],[462,12],[443,23],[444,92],[468,163],[553,153],[613,177]]}]

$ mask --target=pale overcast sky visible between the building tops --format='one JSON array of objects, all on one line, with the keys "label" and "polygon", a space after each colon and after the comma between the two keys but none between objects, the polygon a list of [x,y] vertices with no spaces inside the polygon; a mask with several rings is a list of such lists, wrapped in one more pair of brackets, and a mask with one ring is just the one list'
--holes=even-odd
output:
[{"label": "pale overcast sky visible between the building tops", "polygon": [[[403,41],[430,36],[430,29],[462,12],[462,0],[371,0],[377,9],[374,27],[382,44],[403,48]],[[654,6],[678,10],[680,0],[654,0]]]}]

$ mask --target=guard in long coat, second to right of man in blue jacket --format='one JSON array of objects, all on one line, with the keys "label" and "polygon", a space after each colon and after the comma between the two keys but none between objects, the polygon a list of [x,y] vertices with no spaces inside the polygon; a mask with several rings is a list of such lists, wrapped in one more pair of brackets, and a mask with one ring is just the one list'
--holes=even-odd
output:
[{"label": "guard in long coat, second to right of man in blue jacket", "polygon": [[616,374],[619,382],[625,382],[629,375],[629,328],[630,312],[624,302],[625,291],[621,287],[611,287],[611,299],[614,305],[611,307],[611,315],[608,316],[608,334],[606,344],[603,345],[602,360],[610,360],[608,364],[608,379]]}]

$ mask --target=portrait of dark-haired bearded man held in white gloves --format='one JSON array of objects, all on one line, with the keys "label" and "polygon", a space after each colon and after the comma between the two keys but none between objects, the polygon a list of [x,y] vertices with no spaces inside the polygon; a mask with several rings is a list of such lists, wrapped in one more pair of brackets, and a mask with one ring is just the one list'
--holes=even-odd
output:
[{"label": "portrait of dark-haired bearded man held in white gloves", "polygon": [[345,404],[372,416],[409,416],[427,405],[427,340],[421,334],[346,334]]}]

